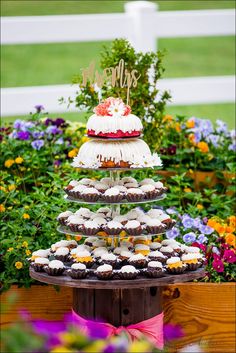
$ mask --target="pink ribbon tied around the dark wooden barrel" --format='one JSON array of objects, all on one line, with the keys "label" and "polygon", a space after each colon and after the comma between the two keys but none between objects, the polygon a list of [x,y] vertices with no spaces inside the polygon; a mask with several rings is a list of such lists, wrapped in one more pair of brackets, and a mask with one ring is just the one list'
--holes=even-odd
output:
[{"label": "pink ribbon tied around the dark wooden barrel", "polygon": [[119,335],[122,331],[125,332],[132,341],[141,339],[145,336],[149,341],[152,342],[158,349],[163,349],[164,338],[163,338],[163,317],[161,313],[152,317],[151,319],[141,321],[134,325],[119,326],[115,327],[109,323],[97,322],[92,320],[84,319],[72,310],[72,314],[76,320],[78,320],[83,326],[84,330],[89,326],[89,323],[96,322],[97,325],[107,329],[108,337]]}]

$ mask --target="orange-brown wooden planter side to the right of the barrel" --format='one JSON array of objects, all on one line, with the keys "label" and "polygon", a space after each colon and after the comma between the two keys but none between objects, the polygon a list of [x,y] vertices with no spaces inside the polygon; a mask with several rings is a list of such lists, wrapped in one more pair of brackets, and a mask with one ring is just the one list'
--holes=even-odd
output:
[{"label": "orange-brown wooden planter side to the right of the barrel", "polygon": [[200,342],[206,352],[235,352],[235,284],[188,283],[164,290],[165,322],[182,326],[181,347]]}]

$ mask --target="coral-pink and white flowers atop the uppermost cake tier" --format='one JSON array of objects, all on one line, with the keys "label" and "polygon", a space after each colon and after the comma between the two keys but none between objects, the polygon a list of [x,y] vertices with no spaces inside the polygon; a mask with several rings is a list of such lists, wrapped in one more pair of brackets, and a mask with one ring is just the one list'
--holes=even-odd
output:
[{"label": "coral-pink and white flowers atop the uppermost cake tier", "polygon": [[100,116],[127,116],[131,108],[125,105],[122,99],[109,97],[94,108],[94,113]]}]

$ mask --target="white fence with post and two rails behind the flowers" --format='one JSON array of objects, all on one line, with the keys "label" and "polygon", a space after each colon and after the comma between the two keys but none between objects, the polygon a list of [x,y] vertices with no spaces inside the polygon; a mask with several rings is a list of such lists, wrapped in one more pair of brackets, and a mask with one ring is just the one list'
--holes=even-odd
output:
[{"label": "white fence with post and two rails behind the flowers", "polygon": [[[160,12],[156,4],[149,1],[126,3],[124,13],[3,17],[1,22],[3,45],[122,37],[135,49],[147,52],[157,49],[158,38],[235,34],[234,10]],[[163,79],[158,88],[171,92],[174,105],[228,103],[235,99],[234,76]],[[75,90],[76,87],[70,85],[3,88],[2,116],[26,114],[35,104],[43,104],[50,112],[65,112],[66,107],[59,105],[58,98],[73,97]],[[76,111],[73,107],[69,110]]]}]

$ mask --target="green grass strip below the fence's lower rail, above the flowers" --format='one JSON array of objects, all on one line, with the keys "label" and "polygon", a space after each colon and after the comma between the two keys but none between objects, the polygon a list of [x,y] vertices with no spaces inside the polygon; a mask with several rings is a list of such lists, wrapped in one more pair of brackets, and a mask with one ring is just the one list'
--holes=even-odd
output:
[{"label": "green grass strip below the fence's lower rail, above the flowers", "polygon": [[[214,104],[214,105],[191,105],[191,106],[171,106],[166,109],[167,114],[173,116],[186,115],[186,116],[195,116],[198,118],[208,118],[212,122],[215,122],[216,119],[221,119],[227,122],[230,129],[235,128],[235,106],[234,104]],[[81,121],[85,122],[84,113],[63,113],[63,114],[50,114],[51,117],[60,116],[64,119],[71,121]],[[17,119],[26,119],[26,116],[20,117],[5,117],[2,118],[2,123],[7,124],[7,122],[13,122]]]}]

